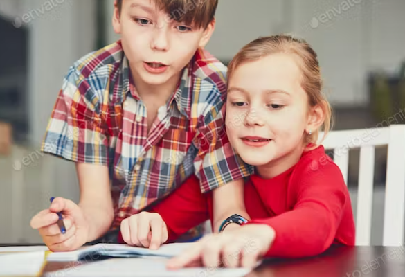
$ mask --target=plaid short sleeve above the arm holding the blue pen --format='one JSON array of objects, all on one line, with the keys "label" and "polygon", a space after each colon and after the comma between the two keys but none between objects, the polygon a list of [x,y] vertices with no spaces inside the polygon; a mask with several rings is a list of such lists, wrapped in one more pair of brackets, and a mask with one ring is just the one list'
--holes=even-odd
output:
[{"label": "plaid short sleeve above the arm holding the blue pen", "polygon": [[108,164],[108,136],[100,116],[102,100],[71,67],[58,93],[41,151],[69,161]]}]

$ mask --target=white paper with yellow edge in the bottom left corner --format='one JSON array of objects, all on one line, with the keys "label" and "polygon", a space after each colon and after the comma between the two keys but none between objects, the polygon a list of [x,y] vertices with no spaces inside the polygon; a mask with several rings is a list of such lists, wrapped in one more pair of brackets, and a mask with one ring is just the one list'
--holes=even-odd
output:
[{"label": "white paper with yellow edge in the bottom left corner", "polygon": [[44,259],[44,251],[1,254],[0,276],[37,276]]}]

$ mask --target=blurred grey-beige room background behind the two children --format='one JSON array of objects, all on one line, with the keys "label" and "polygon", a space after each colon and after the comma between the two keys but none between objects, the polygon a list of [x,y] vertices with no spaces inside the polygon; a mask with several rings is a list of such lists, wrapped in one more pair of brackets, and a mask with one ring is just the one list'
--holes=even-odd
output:
[{"label": "blurred grey-beige room background behind the two children", "polygon": [[[73,163],[40,153],[39,143],[69,66],[119,39],[112,10],[113,0],[0,0],[0,137],[12,129],[11,150],[0,154],[0,243],[41,242],[30,218],[51,196],[78,201]],[[207,49],[226,64],[258,36],[303,37],[319,55],[334,129],[375,127],[405,107],[396,98],[404,26],[404,0],[219,0]],[[381,244],[386,149],[376,159],[372,243]],[[358,161],[351,151],[354,210]]]}]

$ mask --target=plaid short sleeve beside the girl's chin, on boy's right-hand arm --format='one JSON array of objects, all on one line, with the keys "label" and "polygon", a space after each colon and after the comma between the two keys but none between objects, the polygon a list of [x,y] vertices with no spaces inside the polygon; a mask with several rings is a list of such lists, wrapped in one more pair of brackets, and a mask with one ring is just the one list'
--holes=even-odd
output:
[{"label": "plaid short sleeve beside the girl's chin, on boy's right-hand arm", "polygon": [[226,136],[224,98],[219,98],[199,126],[199,152],[195,159],[195,175],[201,192],[206,193],[230,181],[251,175],[253,168],[240,158]]}]

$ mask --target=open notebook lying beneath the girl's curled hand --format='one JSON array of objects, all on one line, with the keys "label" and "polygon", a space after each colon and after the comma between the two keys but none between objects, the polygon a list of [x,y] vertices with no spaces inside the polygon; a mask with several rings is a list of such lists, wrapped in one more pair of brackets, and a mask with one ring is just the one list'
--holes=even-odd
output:
[{"label": "open notebook lying beneath the girl's curled hand", "polygon": [[128,244],[104,244],[99,243],[91,246],[80,247],[75,251],[53,252],[47,257],[48,261],[75,261],[96,260],[100,256],[131,258],[131,257],[163,257],[177,256],[194,242],[177,242],[163,244],[159,249],[150,250],[144,247],[132,247]]}]

